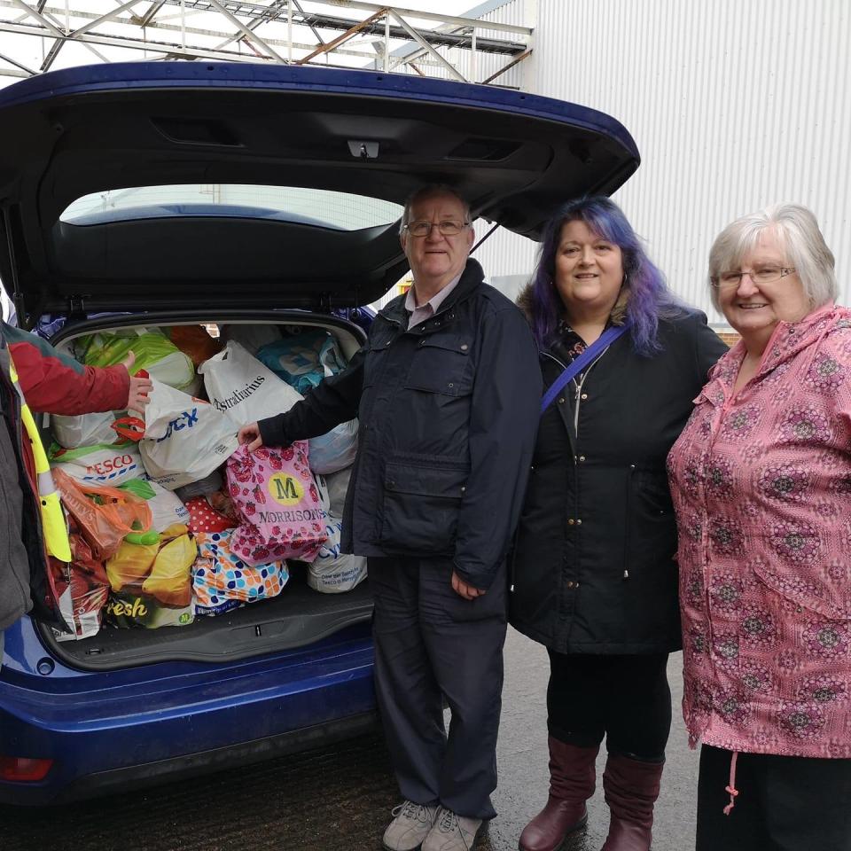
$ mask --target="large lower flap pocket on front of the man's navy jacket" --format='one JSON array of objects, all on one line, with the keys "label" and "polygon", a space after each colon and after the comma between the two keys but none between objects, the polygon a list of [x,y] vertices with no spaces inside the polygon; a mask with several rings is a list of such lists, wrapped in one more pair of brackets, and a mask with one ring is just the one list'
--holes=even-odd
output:
[{"label": "large lower flap pocket on front of the man's navy jacket", "polygon": [[467,475],[464,465],[388,462],[379,543],[390,552],[450,555]]}]

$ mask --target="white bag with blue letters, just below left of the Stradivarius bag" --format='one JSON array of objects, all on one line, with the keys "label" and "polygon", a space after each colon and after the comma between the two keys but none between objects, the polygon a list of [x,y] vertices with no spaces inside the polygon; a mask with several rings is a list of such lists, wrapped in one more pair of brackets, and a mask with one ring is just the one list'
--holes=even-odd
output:
[{"label": "white bag with blue letters, just below left of the Stradivarius bag", "polygon": [[144,469],[175,490],[209,475],[236,451],[237,426],[208,402],[153,381],[139,443]]}]

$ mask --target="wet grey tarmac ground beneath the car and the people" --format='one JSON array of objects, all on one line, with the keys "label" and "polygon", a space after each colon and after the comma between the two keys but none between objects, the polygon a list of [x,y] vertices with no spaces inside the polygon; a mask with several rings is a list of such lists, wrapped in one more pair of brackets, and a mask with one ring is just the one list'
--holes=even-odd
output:
[{"label": "wet grey tarmac ground beneath the car and the people", "polygon": [[[543,647],[509,630],[498,746],[499,816],[477,851],[512,851],[547,798]],[[656,808],[653,851],[694,847],[697,753],[679,707],[680,655],[668,678],[674,729]],[[597,766],[602,776],[603,757]],[[155,789],[54,808],[0,806],[0,849],[43,851],[379,851],[398,792],[380,734]],[[603,792],[589,801],[588,831],[564,851],[599,851],[608,825]]]}]

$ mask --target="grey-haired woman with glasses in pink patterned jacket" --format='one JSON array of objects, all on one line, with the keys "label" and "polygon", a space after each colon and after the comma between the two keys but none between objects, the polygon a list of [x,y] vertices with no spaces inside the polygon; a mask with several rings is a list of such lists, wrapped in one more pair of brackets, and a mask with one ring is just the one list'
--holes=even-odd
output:
[{"label": "grey-haired woman with glasses in pink patterned jacket", "polygon": [[847,851],[851,311],[805,207],[731,223],[709,277],[742,339],[668,456],[697,849]]}]

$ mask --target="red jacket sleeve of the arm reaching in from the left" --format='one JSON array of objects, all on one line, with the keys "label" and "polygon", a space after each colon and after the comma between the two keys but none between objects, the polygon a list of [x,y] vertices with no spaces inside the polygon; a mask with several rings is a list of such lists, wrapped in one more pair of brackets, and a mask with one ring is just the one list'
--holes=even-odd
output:
[{"label": "red jacket sleeve of the arm reaching in from the left", "polygon": [[43,352],[29,342],[11,343],[9,349],[30,410],[70,416],[127,407],[130,377],[121,364],[71,365],[59,352]]}]

